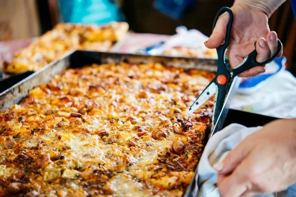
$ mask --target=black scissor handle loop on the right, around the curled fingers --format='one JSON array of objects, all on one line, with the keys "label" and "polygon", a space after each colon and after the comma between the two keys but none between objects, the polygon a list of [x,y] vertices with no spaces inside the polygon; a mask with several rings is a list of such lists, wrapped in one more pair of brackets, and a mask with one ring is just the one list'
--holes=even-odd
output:
[{"label": "black scissor handle loop on the right, around the curled fingers", "polygon": [[256,61],[256,56],[258,53],[256,51],[256,42],[255,42],[255,50],[249,54],[249,56],[246,59],[246,61],[244,62],[244,64],[242,64],[241,66],[232,70],[233,77],[235,77],[236,75],[240,74],[241,72],[248,70],[250,68],[253,68],[255,66],[264,66],[264,65],[270,63],[280,53],[281,49],[282,49],[282,42],[281,42],[281,40],[278,39],[278,48],[277,48],[276,52],[274,53],[274,55],[271,58],[269,58],[268,60],[258,63]]}]

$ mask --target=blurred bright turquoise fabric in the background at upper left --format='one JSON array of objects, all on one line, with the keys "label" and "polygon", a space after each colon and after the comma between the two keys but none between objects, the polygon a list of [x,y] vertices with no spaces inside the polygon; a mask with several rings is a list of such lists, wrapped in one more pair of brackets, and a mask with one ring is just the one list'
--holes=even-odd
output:
[{"label": "blurred bright turquoise fabric in the background at upper left", "polygon": [[106,24],[124,21],[124,15],[113,0],[59,0],[65,23]]}]

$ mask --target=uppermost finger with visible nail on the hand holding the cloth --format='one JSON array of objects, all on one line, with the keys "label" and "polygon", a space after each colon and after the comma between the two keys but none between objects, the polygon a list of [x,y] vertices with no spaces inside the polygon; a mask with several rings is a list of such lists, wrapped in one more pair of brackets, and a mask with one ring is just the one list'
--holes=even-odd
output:
[{"label": "uppermost finger with visible nail on the hand holding the cloth", "polygon": [[[245,140],[244,140],[245,141]],[[242,141],[233,150],[231,150],[222,162],[218,162],[213,167],[222,174],[231,173],[234,168],[247,157],[251,151],[251,146],[248,142]]]}]

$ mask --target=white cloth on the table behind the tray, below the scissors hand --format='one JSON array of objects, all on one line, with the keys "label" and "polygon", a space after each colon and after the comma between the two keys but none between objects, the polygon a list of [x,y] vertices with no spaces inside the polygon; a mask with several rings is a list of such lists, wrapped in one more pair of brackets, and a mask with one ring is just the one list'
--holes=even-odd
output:
[{"label": "white cloth on the table behind the tray, below the scissors hand", "polygon": [[238,91],[230,108],[277,118],[296,118],[296,78],[283,70],[254,91]]}]

